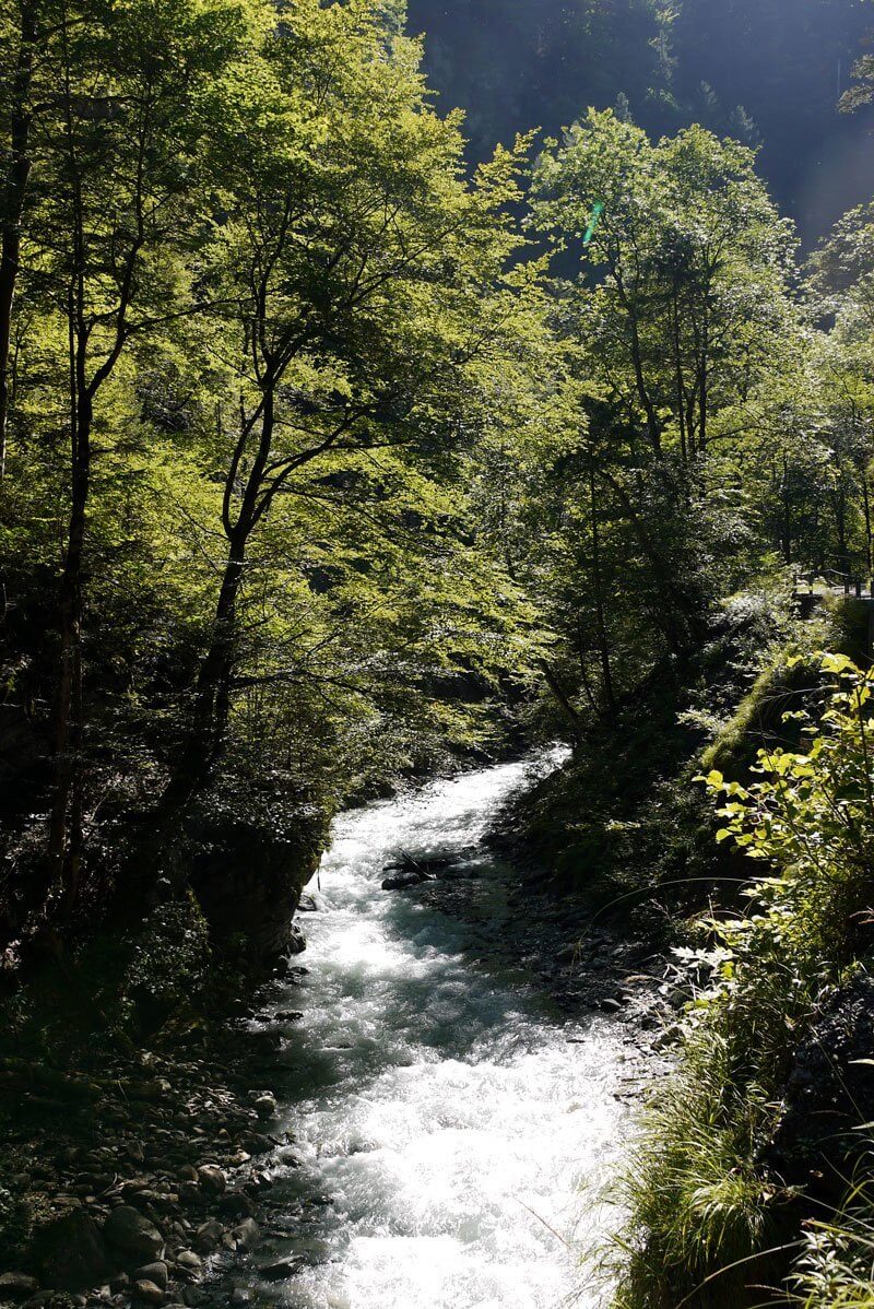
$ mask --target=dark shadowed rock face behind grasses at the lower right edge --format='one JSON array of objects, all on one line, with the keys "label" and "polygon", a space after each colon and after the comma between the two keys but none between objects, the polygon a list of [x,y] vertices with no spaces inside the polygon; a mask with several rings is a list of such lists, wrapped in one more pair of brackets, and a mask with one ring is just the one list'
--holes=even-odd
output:
[{"label": "dark shadowed rock face behind grasses at the lower right edge", "polygon": [[848,1161],[864,1144],[854,1128],[874,1119],[874,1067],[860,1063],[870,1059],[874,978],[860,977],[832,996],[795,1055],[768,1152],[786,1181],[820,1194],[845,1189]]}]

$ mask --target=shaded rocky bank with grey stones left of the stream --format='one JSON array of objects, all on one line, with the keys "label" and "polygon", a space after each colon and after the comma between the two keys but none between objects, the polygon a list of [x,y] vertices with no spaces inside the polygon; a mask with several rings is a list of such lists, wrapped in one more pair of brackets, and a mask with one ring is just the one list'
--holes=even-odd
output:
[{"label": "shaded rocky bank with grey stones left of the stream", "polygon": [[75,1069],[0,1056],[0,1304],[204,1304],[212,1257],[260,1244],[264,1160],[296,1161],[271,1051],[230,1020],[80,1052]]}]

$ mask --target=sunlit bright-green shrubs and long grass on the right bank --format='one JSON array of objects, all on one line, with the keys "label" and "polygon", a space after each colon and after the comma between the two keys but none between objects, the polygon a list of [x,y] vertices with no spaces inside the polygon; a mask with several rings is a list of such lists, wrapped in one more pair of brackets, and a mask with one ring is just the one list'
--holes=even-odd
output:
[{"label": "sunlit bright-green shrubs and long grass on the right bank", "polygon": [[[818,1005],[866,957],[873,890],[873,679],[845,654],[822,656],[820,669],[831,679],[826,708],[788,715],[803,749],[761,749],[746,784],[717,768],[700,779],[720,798],[717,842],[764,872],[744,891],[746,912],[703,919],[705,942],[676,952],[690,1003],[676,1072],[654,1098],[628,1181],[623,1305],[667,1305],[671,1295],[746,1302],[743,1288],[767,1267],[752,1257],[792,1236],[781,1216],[790,1196],[764,1162],[767,1147]],[[849,1208],[865,1212],[858,1195]],[[843,1251],[844,1271],[858,1270],[865,1221],[810,1237],[809,1304],[856,1302],[861,1283],[839,1263]],[[826,1285],[833,1300],[822,1299]]]}]

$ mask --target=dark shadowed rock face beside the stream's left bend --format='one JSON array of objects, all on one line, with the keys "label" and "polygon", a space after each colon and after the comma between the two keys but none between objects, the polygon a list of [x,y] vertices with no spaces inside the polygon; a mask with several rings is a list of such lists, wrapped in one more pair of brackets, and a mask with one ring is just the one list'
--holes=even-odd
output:
[{"label": "dark shadowed rock face beside the stream's left bend", "polygon": [[324,827],[314,821],[277,833],[242,818],[199,818],[196,827],[188,876],[213,942],[241,953],[254,971],[300,953],[305,942],[292,919],[318,868]]}]

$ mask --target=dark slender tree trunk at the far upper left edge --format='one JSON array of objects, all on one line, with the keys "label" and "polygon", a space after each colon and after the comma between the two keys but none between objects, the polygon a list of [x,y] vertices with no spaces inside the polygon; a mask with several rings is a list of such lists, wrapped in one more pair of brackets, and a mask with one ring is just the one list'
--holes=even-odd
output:
[{"label": "dark slender tree trunk at the far upper left edge", "polygon": [[9,173],[0,216],[0,479],[7,469],[9,428],[9,346],[21,258],[21,216],[30,178],[30,85],[37,45],[37,0],[21,0],[18,58],[12,79]]}]

